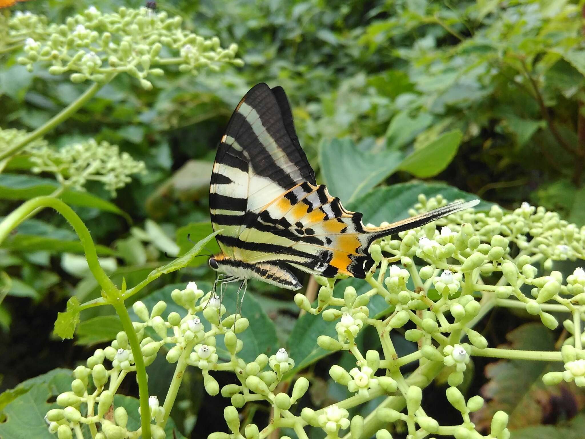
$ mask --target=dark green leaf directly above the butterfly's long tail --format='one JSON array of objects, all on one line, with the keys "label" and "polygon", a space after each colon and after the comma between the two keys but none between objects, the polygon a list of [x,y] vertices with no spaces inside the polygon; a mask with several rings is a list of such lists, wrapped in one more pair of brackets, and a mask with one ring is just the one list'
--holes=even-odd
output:
[{"label": "dark green leaf directly above the butterfly's long tail", "polygon": [[[380,224],[383,221],[394,222],[408,218],[408,210],[418,203],[418,194],[434,197],[441,194],[448,201],[462,199],[476,200],[477,196],[464,192],[453,186],[441,183],[398,183],[388,187],[378,187],[362,198],[350,203],[349,210],[362,212],[364,223]],[[481,201],[476,210],[489,210],[493,203]]]}]

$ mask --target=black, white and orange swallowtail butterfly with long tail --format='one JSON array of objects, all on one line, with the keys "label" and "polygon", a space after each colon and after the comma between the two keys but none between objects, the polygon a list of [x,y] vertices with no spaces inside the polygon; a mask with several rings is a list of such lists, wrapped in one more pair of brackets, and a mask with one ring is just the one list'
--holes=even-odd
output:
[{"label": "black, white and orange swallowtail butterfly with long tail", "polygon": [[[316,184],[282,87],[255,85],[233,112],[211,174],[209,211],[221,252],[209,258],[222,286],[258,279],[284,289],[301,283],[290,269],[362,278],[368,248],[383,236],[472,207],[456,202],[384,227],[366,227],[324,184]],[[215,284],[214,284],[215,287]],[[215,291],[215,288],[214,288]]]}]

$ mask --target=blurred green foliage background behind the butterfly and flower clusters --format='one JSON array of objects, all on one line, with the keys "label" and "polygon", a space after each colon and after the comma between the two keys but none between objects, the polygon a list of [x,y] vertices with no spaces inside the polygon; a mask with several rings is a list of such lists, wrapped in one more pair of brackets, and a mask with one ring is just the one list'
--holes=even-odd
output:
[{"label": "blurred green foliage background behind the butterfly and flower clusters", "polygon": [[[460,194],[457,188],[505,208],[522,201],[543,205],[585,225],[583,3],[159,2],[159,11],[181,16],[184,28],[204,37],[218,36],[225,47],[239,44],[238,56],[245,66],[197,77],[174,70],[154,78],[151,91],[133,78],[119,76],[45,139],[57,147],[88,138],[107,141],[146,163],[147,172],[135,176],[115,198],[97,183],[86,186],[109,204],[98,206],[94,200],[75,206],[103,246],[105,264],[118,284],[122,277],[129,285],[142,279],[166,262],[164,252],[176,256],[190,248],[189,232],[196,240],[211,231],[207,195],[215,148],[233,108],[258,82],[284,87],[318,182],[328,184],[331,193],[353,210],[363,211],[367,222],[404,217],[421,191],[454,198]],[[90,5],[86,0],[37,0],[0,13],[31,11],[62,23]],[[103,12],[122,5],[137,8],[143,3],[95,4]],[[18,56],[19,50],[9,50],[0,40],[3,129],[33,131],[88,87],[71,83],[67,76],[50,75],[38,64],[29,72],[16,62]],[[0,174],[0,215],[39,187],[52,184],[50,176],[31,176],[30,167],[26,156],[6,164]],[[406,182],[410,183],[401,185]],[[381,187],[391,185],[398,186]],[[56,313],[68,297],[75,294],[80,301],[99,297],[97,283],[86,277],[76,243],[64,219],[44,211],[0,248],[0,269],[12,280],[0,304],[0,390],[57,366],[75,366],[119,330],[112,316],[99,315],[106,311],[99,308],[82,314],[75,344],[51,335]],[[167,276],[153,283],[140,299],[164,297],[168,288],[157,288],[171,282],[211,280],[204,260],[199,258],[173,279]],[[309,322],[297,321],[291,294],[265,284],[252,284],[250,289],[250,307],[256,309],[259,303],[258,312],[276,323],[270,328],[271,345],[311,338]],[[517,326],[517,319],[528,317],[501,313],[516,319],[516,324],[488,321],[490,345],[521,342],[518,334],[508,338],[506,334]],[[543,342],[541,335],[529,333]],[[552,338],[546,340],[552,343]],[[311,352],[312,346],[300,349]],[[402,348],[407,352],[413,347],[404,340]],[[327,362],[307,372],[313,389],[325,389],[313,392],[316,405],[338,397],[339,389],[327,382]],[[484,376],[485,365],[476,365],[470,389],[484,388],[494,378]],[[172,369],[164,361],[152,367],[150,385],[162,397]],[[543,370],[532,375],[538,377]],[[185,436],[204,437],[215,431],[206,417],[217,416],[227,402],[204,397],[201,376],[191,375],[173,418]],[[512,380],[526,379],[525,374],[517,375]],[[525,387],[535,392],[532,384],[538,379],[531,377]],[[498,383],[490,383],[493,392]],[[125,392],[134,394],[136,389]],[[534,402],[538,395],[526,390],[512,402],[496,397],[519,413],[522,404]],[[577,397],[568,402],[563,395],[556,398],[546,399],[536,414],[528,410],[518,415],[515,427],[554,424],[581,409]],[[248,416],[267,416],[269,408],[249,410]],[[448,416],[442,414],[442,419]]]}]

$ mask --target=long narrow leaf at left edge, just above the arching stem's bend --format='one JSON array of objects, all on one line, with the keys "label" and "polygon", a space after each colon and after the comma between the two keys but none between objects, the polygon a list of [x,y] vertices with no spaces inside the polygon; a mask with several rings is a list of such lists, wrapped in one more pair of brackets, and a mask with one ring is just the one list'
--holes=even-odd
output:
[{"label": "long narrow leaf at left edge, just above the arching stem's bend", "polygon": [[[0,199],[2,200],[30,200],[30,198],[50,195],[60,187],[57,181],[50,179],[20,174],[0,174]],[[129,215],[118,206],[88,192],[67,189],[59,198],[67,204],[113,212],[131,222]]]}]

